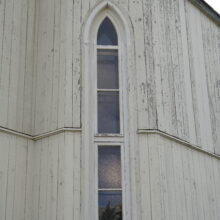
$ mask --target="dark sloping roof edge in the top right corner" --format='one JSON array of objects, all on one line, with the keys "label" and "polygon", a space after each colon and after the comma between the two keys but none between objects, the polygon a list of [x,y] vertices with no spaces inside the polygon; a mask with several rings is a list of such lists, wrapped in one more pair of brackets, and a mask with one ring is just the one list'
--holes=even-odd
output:
[{"label": "dark sloping roof edge in the top right corner", "polygon": [[220,26],[220,14],[215,11],[208,3],[204,0],[189,0],[193,5],[204,12],[209,18],[211,18],[218,26]]}]

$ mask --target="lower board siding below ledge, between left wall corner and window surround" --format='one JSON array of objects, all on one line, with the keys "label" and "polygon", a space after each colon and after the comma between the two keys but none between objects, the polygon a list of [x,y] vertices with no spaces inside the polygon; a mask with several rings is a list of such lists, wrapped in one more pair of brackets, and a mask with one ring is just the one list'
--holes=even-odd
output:
[{"label": "lower board siding below ledge, between left wall corner and window surround", "polygon": [[80,142],[72,132],[36,142],[32,219],[80,219]]}]

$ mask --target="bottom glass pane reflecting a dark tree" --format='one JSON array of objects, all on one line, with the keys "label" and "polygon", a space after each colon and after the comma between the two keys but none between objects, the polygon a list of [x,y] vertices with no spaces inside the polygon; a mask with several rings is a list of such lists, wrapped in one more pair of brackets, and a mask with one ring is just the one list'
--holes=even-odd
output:
[{"label": "bottom glass pane reflecting a dark tree", "polygon": [[99,220],[122,220],[121,191],[99,192]]}]

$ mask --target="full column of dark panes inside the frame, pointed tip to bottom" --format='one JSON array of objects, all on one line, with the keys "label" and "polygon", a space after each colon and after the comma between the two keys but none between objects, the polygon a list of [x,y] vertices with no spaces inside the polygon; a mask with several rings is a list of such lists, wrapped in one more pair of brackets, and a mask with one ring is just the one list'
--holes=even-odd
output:
[{"label": "full column of dark panes inside the frame, pointed tip to bottom", "polygon": [[[121,152],[121,83],[117,31],[106,17],[97,33],[97,133],[105,143],[98,147],[98,215],[102,219],[122,219],[123,187]],[[110,137],[110,138],[109,138]],[[106,144],[107,143],[107,144]]]}]

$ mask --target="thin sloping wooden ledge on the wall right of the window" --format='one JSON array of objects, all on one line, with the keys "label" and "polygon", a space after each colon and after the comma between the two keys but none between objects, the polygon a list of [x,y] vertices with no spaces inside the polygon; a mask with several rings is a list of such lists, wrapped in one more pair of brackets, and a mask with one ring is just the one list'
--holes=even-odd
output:
[{"label": "thin sloping wooden ledge on the wall right of the window", "polygon": [[172,141],[175,141],[177,143],[180,143],[182,145],[185,145],[187,147],[190,147],[191,149],[194,149],[194,150],[197,150],[197,151],[200,151],[202,153],[205,153],[205,154],[208,154],[209,156],[212,156],[212,157],[215,157],[217,159],[220,159],[220,155],[217,155],[215,153],[212,153],[210,151],[207,151],[207,150],[204,150],[203,148],[195,145],[195,144],[191,144],[181,138],[178,138],[176,136],[173,136],[173,135],[170,135],[166,132],[163,132],[163,131],[160,131],[160,130],[156,130],[156,129],[138,129],[138,134],[157,134],[157,135],[160,135],[164,138],[167,138],[167,139],[170,139]]}]

